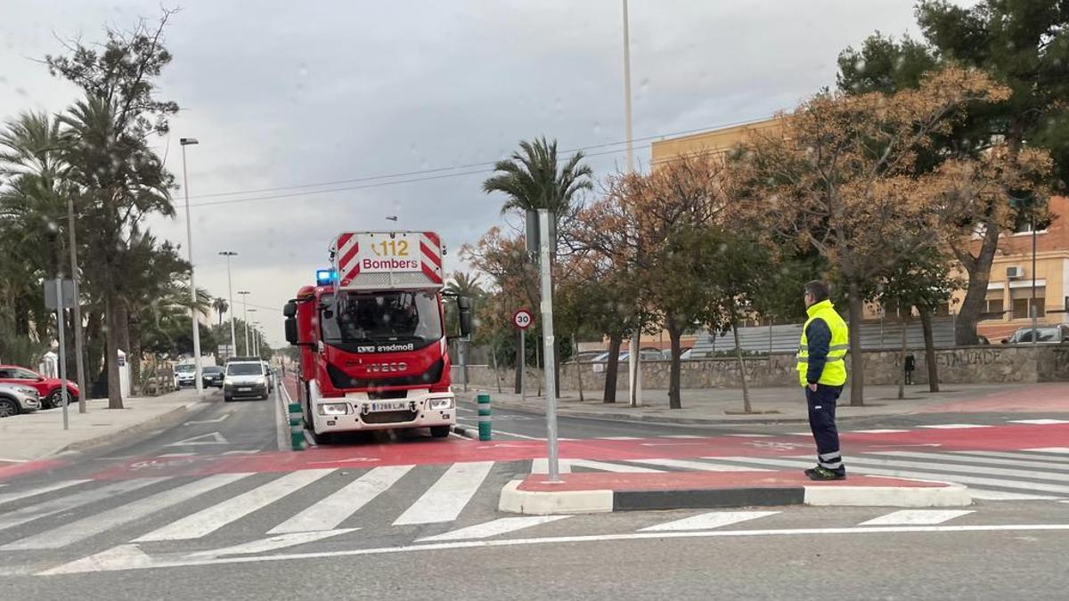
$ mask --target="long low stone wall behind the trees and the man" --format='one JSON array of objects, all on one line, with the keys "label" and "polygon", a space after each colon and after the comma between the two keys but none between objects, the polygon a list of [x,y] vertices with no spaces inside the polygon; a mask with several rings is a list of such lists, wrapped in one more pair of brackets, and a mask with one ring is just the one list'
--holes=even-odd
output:
[{"label": "long low stone wall behind the trees and the man", "polygon": [[[928,367],[924,349],[911,349],[916,359],[914,382],[928,382]],[[849,361],[849,357],[847,358]],[[940,382],[946,384],[1003,384],[1036,382],[1069,382],[1069,345],[1043,344],[1033,346],[964,346],[944,349],[935,352]],[[646,389],[668,388],[667,360],[642,363],[642,387]],[[797,384],[793,354],[773,354],[765,357],[747,357],[746,374],[755,387],[792,386]],[[849,367],[849,363],[847,364]],[[600,394],[605,385],[605,372],[594,371],[594,365],[580,367],[583,388]],[[597,366],[602,368],[603,366]],[[579,387],[575,364],[561,366],[560,386],[564,390]],[[897,351],[866,351],[865,382],[867,384],[897,384],[902,373]],[[453,383],[463,382],[461,368],[453,366]],[[495,377],[496,375],[496,377]],[[515,372],[501,368],[497,374],[489,366],[468,366],[468,383],[475,386],[497,386],[499,379],[502,390],[511,390]],[[534,390],[543,379],[541,370],[527,369],[528,389]],[[735,388],[739,387],[739,364],[732,357],[682,361],[680,383],[685,389]],[[626,364],[620,364],[617,389],[628,389]]]}]

